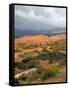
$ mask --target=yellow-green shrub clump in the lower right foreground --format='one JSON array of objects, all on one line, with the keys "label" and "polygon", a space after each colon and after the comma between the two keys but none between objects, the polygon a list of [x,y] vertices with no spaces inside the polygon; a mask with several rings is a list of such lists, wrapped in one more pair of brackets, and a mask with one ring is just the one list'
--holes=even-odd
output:
[{"label": "yellow-green shrub clump in the lower right foreground", "polygon": [[44,69],[42,67],[39,67],[37,69],[37,75],[40,78],[41,81],[44,81],[50,77],[55,77],[59,73],[59,68],[57,65],[53,65],[48,69]]}]

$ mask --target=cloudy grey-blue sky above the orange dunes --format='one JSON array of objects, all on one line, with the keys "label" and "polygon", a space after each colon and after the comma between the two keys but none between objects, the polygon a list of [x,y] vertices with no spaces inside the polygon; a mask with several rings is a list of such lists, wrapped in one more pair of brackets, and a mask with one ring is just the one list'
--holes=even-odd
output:
[{"label": "cloudy grey-blue sky above the orange dunes", "polygon": [[15,5],[15,32],[66,31],[66,8]]}]

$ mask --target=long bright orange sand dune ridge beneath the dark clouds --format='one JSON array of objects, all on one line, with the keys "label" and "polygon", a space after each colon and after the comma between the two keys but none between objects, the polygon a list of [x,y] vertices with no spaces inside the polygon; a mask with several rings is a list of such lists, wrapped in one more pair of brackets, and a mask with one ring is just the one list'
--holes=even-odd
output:
[{"label": "long bright orange sand dune ridge beneath the dark clouds", "polygon": [[15,41],[18,43],[26,43],[26,42],[39,43],[39,42],[51,42],[51,41],[54,42],[54,41],[58,41],[58,40],[65,39],[65,38],[66,38],[65,34],[54,35],[50,37],[46,35],[26,35],[23,37],[16,38]]}]

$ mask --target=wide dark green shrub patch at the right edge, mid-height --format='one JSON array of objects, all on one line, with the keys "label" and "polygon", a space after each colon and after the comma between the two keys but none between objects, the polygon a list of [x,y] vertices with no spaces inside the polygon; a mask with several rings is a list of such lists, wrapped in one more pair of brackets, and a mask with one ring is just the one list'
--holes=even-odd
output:
[{"label": "wide dark green shrub patch at the right edge, mid-height", "polygon": [[46,59],[48,59],[48,60],[61,60],[64,58],[66,58],[66,54],[61,53],[61,52],[56,52],[56,51],[44,52],[38,56],[38,59],[42,59],[42,60],[46,60]]}]

